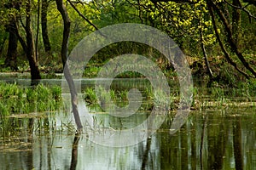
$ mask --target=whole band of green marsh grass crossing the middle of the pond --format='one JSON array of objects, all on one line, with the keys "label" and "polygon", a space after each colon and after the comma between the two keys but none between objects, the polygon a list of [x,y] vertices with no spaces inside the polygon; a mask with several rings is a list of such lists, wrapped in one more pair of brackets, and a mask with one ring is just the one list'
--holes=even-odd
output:
[{"label": "whole band of green marsh grass crossing the middle of the pond", "polygon": [[[127,98],[129,89],[122,87],[117,89],[113,87],[109,92],[100,89],[101,105],[108,104],[113,101],[119,107],[129,105]],[[136,86],[136,84],[135,84]],[[139,90],[143,94],[143,105],[141,110],[149,111],[153,108],[154,102],[164,102],[167,99],[160,91],[154,91],[148,83],[140,87]],[[236,88],[229,88],[226,85],[215,83],[212,88],[204,88],[195,86],[194,100],[192,108],[195,110],[204,110],[207,108],[222,109],[229,106],[255,106],[256,104],[256,81],[249,80],[236,83]],[[100,108],[97,103],[97,96],[94,88],[86,88],[84,91],[84,100],[87,105]],[[178,89],[172,92],[169,98],[171,110],[177,109],[179,102]],[[23,114],[33,111],[55,111],[61,105],[61,88],[47,87],[38,85],[37,87],[22,87],[17,84],[9,84],[0,82],[0,116],[9,116],[11,114]]]}]

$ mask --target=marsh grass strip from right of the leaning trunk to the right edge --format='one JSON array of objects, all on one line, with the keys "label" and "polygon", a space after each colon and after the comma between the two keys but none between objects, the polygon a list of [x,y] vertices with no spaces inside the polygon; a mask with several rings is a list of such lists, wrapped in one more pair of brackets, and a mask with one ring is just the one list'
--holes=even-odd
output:
[{"label": "marsh grass strip from right of the leaning trunk to the right edge", "polygon": [[[256,106],[256,86],[254,86],[253,83],[255,82],[245,82],[244,84],[240,84],[239,88],[226,88],[220,86],[212,88],[194,87],[194,98],[191,108],[193,110],[206,110],[208,108],[224,109],[226,107],[254,107]],[[169,103],[171,111],[177,110],[177,104],[180,100],[178,92],[172,92],[171,96],[166,98],[160,90],[154,90],[150,87],[140,90],[143,94],[143,104],[140,107],[141,111],[151,111],[154,103],[160,105]],[[109,104],[112,100],[115,105],[124,107],[129,104],[127,95],[127,89],[111,89],[109,92],[103,88],[99,90],[101,105]],[[97,103],[94,88],[87,88],[84,91],[84,100],[88,105],[100,108],[100,105]]]}]

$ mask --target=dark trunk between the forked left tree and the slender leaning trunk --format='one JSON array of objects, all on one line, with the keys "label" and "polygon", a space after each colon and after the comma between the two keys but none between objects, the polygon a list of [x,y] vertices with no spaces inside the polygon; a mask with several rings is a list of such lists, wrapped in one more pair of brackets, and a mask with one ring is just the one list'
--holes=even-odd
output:
[{"label": "dark trunk between the forked left tree and the slender leaning trunk", "polygon": [[47,10],[48,10],[49,2],[48,0],[42,1],[41,8],[41,26],[42,26],[42,36],[44,42],[44,50],[46,53],[50,53],[51,47],[49,43],[48,37],[48,26],[47,26]]}]

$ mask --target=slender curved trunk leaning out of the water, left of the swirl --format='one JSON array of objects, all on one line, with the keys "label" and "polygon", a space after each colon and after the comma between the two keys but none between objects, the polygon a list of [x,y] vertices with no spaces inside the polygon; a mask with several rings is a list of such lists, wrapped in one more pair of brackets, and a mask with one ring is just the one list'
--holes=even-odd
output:
[{"label": "slender curved trunk leaning out of the water, left of the swirl", "polygon": [[71,76],[71,73],[69,71],[68,65],[67,65],[67,51],[68,51],[68,38],[70,34],[70,20],[67,15],[67,9],[63,5],[62,0],[55,0],[57,4],[57,8],[59,12],[61,13],[62,20],[64,22],[64,30],[63,30],[63,39],[62,39],[62,44],[61,44],[61,59],[62,59],[62,64],[63,64],[63,71],[64,71],[64,76],[67,80],[68,87],[70,89],[70,94],[71,94],[71,104],[73,108],[73,116],[75,119],[75,122],[77,124],[78,130],[81,131],[83,126],[80,121],[79,117],[79,110],[78,110],[78,94],[73,82],[73,77]]}]

